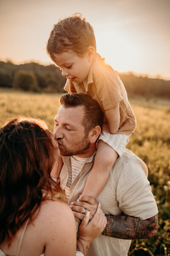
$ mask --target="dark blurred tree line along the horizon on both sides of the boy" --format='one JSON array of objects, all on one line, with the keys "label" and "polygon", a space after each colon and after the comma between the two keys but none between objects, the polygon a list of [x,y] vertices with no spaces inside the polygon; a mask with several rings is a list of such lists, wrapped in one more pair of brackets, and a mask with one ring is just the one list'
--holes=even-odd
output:
[{"label": "dark blurred tree line along the horizon on both sides of the boy", "polygon": [[[117,72],[118,73],[118,72]],[[133,73],[118,73],[130,95],[170,97],[170,80],[136,76]],[[0,87],[24,91],[63,93],[66,78],[54,64],[38,63],[16,65],[0,61]]]}]

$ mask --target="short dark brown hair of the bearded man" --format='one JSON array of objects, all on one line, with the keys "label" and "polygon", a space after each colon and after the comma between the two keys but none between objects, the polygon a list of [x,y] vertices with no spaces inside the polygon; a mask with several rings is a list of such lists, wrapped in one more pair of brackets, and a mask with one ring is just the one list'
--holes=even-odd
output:
[{"label": "short dark brown hair of the bearded man", "polygon": [[96,125],[99,125],[102,131],[103,112],[99,103],[91,96],[84,93],[65,93],[62,94],[60,103],[65,108],[83,107],[84,118],[82,120],[82,125],[85,127],[86,134],[88,134]]}]

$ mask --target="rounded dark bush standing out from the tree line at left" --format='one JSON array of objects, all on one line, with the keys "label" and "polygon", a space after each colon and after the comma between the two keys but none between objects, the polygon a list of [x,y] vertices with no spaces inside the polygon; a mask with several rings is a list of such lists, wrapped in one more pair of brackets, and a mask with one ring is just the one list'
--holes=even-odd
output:
[{"label": "rounded dark bush standing out from the tree line at left", "polygon": [[20,88],[25,91],[40,91],[37,78],[33,72],[18,70],[14,75],[14,88]]}]

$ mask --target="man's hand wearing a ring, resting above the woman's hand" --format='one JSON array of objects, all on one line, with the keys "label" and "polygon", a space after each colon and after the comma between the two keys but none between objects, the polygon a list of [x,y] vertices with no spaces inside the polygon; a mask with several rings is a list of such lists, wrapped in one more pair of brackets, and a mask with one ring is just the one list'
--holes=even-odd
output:
[{"label": "man's hand wearing a ring, resting above the woman's hand", "polygon": [[70,204],[70,208],[74,213],[74,217],[79,218],[82,220],[84,218],[84,214],[82,213],[84,209],[87,209],[90,212],[90,220],[93,218],[96,209],[97,209],[97,202],[89,195],[85,195],[79,197],[79,201],[72,202]]}]

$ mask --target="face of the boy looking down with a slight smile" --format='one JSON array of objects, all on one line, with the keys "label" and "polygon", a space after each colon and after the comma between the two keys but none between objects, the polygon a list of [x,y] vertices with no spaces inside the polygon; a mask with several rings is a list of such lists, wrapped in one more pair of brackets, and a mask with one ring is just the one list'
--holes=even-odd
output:
[{"label": "face of the boy looking down with a slight smile", "polygon": [[66,76],[77,84],[88,79],[93,61],[88,52],[82,58],[73,51],[54,54],[54,56],[54,62],[61,68],[62,76]]}]

